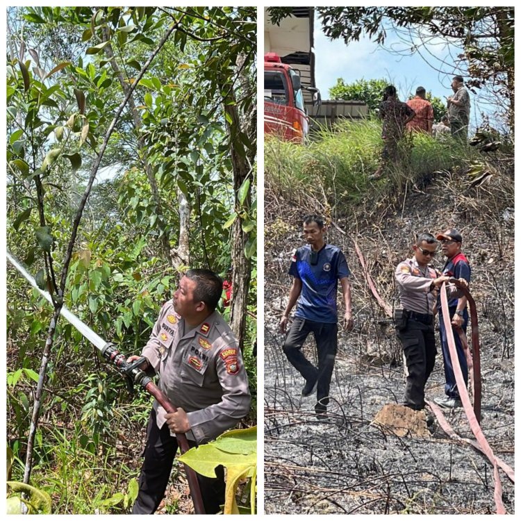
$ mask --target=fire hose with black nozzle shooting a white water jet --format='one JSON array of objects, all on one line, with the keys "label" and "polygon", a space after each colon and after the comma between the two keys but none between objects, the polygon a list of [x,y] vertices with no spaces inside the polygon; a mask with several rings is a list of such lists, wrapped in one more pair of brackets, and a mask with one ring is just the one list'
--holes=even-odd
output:
[{"label": "fire hose with black nozzle shooting a white water jet", "polygon": [[[47,291],[40,289],[33,277],[19,264],[19,262],[9,253],[7,252],[8,261],[16,268],[16,270],[24,276],[24,278],[40,292],[40,295],[47,299],[51,304],[54,305],[53,299],[51,295]],[[132,389],[134,384],[138,384],[141,386],[149,395],[153,396],[158,404],[162,406],[167,413],[175,413],[177,408],[169,401],[169,399],[163,394],[163,392],[156,386],[154,381],[147,374],[140,369],[140,365],[146,358],[141,357],[138,360],[133,361],[132,363],[127,363],[127,356],[120,353],[117,350],[115,345],[110,342],[106,342],[103,338],[97,335],[92,329],[90,329],[86,324],[81,322],[81,320],[76,317],[71,311],[69,311],[65,306],[62,306],[60,309],[60,315],[63,315],[65,320],[72,324],[85,338],[87,338],[92,345],[99,349],[101,352],[101,356],[103,356],[106,361],[110,362],[113,366],[116,367],[117,371],[124,375],[127,381],[127,385],[129,389]],[[179,444],[179,449],[181,450],[181,454],[184,454],[190,449],[188,445],[188,440],[185,434],[176,433],[176,438]],[[203,498],[201,496],[201,489],[199,488],[199,481],[197,481],[197,474],[195,470],[188,467],[188,465],[184,465],[186,477],[188,481],[188,486],[190,488],[190,495],[192,497],[192,502],[194,504],[194,511],[196,514],[204,514],[204,505]]]}]

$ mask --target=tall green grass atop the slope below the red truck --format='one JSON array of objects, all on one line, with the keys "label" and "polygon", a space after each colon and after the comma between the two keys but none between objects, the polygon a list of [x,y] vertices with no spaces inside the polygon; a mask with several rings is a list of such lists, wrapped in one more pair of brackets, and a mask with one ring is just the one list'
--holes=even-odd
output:
[{"label": "tall green grass atop the slope below the red truck", "polygon": [[380,164],[381,123],[366,119],[345,121],[333,130],[320,129],[308,145],[283,142],[267,136],[265,140],[265,183],[275,192],[317,190],[333,200],[353,204],[360,201],[377,183],[383,191],[402,192],[433,172],[461,167],[477,155],[468,144],[450,136],[438,141],[415,133],[404,140],[404,159],[390,165],[381,181],[369,179]]}]

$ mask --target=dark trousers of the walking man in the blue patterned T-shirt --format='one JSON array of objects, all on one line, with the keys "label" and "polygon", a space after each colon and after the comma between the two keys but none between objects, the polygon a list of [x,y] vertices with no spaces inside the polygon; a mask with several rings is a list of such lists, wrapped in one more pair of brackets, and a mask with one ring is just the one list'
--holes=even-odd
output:
[{"label": "dark trousers of the walking man in the blue patterned T-shirt", "polygon": [[[309,333],[317,342],[318,368],[302,354],[302,346]],[[338,347],[338,324],[324,324],[303,318],[295,318],[284,342],[284,353],[291,365],[306,379],[317,380],[317,401],[329,403],[329,385],[335,365]]]}]

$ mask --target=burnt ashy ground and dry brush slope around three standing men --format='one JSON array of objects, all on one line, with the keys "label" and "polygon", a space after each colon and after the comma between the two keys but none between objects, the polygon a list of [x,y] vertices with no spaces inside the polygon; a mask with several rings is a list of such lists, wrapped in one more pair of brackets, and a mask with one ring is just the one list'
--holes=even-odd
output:
[{"label": "burnt ashy ground and dry brush slope around three standing men", "polygon": [[[508,184],[510,183],[510,185]],[[472,265],[483,381],[481,426],[496,456],[514,465],[513,183],[501,176],[470,188],[457,174],[437,174],[393,201],[376,194],[347,214],[318,197],[265,193],[265,513],[494,513],[492,467],[438,422],[429,438],[399,438],[371,424],[385,404],[402,400],[399,343],[370,295],[354,252],[355,238],[377,289],[392,305],[395,265],[409,256],[414,233],[461,229]],[[282,352],[277,333],[288,299],[290,251],[301,245],[299,220],[329,213],[328,242],[352,271],[355,328],[340,333],[329,421],[317,420],[313,397]],[[443,256],[436,257],[443,267]],[[340,310],[343,309],[340,302]],[[469,327],[470,332],[470,327]],[[306,356],[315,357],[313,343]],[[439,340],[427,399],[443,395]],[[446,413],[462,438],[474,439],[462,409]],[[514,487],[499,471],[503,502],[514,513]]]}]

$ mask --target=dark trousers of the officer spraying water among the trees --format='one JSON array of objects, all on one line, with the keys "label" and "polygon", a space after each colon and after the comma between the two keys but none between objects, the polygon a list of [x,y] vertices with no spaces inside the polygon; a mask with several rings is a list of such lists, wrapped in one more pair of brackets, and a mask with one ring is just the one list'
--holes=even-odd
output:
[{"label": "dark trousers of the officer spraying water among the trees", "polygon": [[[197,443],[188,440],[190,447]],[[152,409],[147,427],[147,445],[144,448],[144,462],[139,478],[139,493],[132,508],[133,514],[153,514],[165,496],[172,463],[177,452],[177,438],[170,436],[165,423],[158,429],[156,411]],[[207,514],[215,514],[224,504],[224,469],[215,469],[217,478],[208,478],[197,474],[204,510]]]}]

